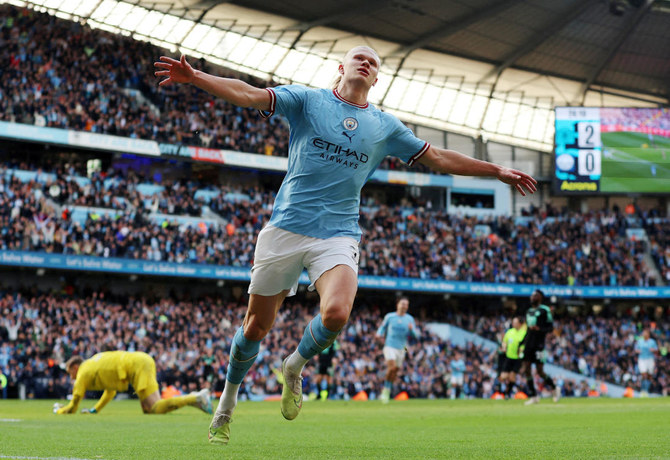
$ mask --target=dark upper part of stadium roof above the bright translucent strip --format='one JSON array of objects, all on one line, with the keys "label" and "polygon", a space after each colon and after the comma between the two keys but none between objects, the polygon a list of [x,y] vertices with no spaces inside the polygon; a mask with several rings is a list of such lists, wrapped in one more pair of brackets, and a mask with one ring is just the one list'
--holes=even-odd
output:
[{"label": "dark upper part of stadium roof above the bright translucent strip", "polygon": [[[645,0],[140,0],[215,24],[230,6],[398,44],[384,57],[424,48],[670,100],[670,1]],[[259,19],[261,19],[259,17]],[[577,96],[582,96],[581,94]],[[580,101],[575,101],[580,102]]]}]

